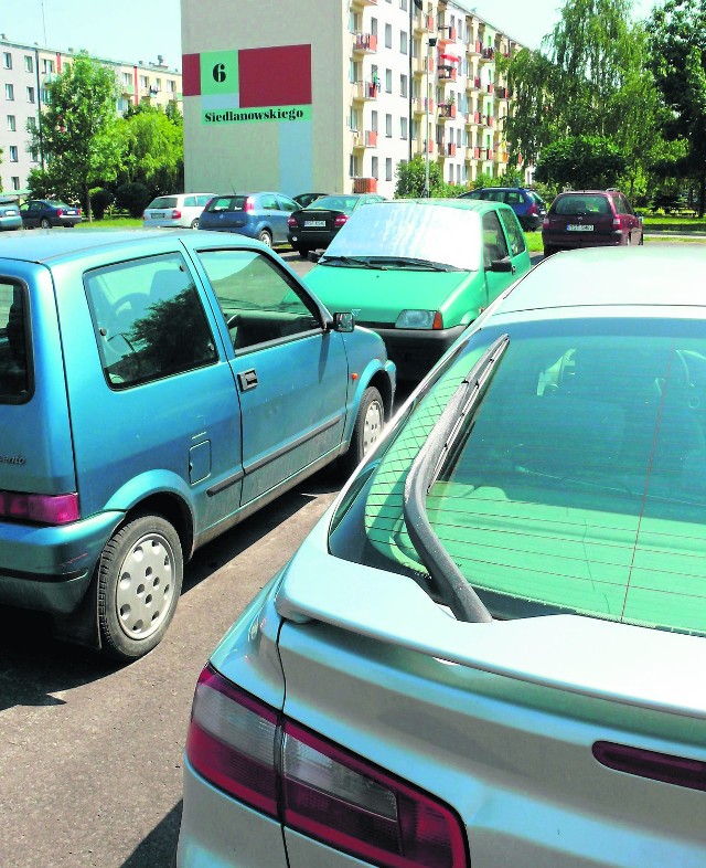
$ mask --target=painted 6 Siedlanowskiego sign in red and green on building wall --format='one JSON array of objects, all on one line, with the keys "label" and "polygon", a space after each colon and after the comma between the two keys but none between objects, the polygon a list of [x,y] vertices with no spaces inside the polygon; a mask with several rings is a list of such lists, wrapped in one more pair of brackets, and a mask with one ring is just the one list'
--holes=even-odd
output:
[{"label": "painted 6 Siedlanowskiego sign in red and green on building wall", "polygon": [[206,125],[311,120],[311,45],[185,54],[183,91]]}]

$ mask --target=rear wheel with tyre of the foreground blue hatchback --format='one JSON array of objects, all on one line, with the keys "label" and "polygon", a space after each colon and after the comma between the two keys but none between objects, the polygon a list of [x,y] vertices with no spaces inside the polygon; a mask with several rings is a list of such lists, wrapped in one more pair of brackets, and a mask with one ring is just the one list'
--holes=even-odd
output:
[{"label": "rear wheel with tyre of the foreground blue hatchback", "polygon": [[161,642],[182,575],[181,540],[167,519],[142,515],[116,530],[98,565],[98,623],[108,656],[133,660]]}]

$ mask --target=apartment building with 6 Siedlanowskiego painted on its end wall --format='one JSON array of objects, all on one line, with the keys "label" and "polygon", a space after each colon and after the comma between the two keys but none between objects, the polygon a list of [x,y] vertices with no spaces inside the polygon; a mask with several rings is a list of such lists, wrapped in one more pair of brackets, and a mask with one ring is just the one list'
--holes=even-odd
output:
[{"label": "apartment building with 6 Siedlanowskiego painted on its end wall", "polygon": [[468,0],[181,0],[188,189],[376,191],[416,155],[507,167],[500,55]]}]

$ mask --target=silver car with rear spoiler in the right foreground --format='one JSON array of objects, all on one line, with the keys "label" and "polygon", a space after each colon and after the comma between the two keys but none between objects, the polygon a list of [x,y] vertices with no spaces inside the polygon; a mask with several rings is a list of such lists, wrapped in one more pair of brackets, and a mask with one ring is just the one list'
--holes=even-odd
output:
[{"label": "silver car with rear spoiler in the right foreground", "polygon": [[706,866],[706,255],[559,253],[204,668],[179,868]]}]

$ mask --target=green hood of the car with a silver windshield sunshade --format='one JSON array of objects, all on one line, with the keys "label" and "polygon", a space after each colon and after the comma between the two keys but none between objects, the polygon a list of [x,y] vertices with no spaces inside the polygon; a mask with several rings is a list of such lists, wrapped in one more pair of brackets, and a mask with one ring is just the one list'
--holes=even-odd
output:
[{"label": "green hood of the car with a silver windshield sunshade", "polygon": [[317,265],[304,277],[314,295],[332,313],[355,310],[361,322],[381,325],[394,325],[402,310],[448,310],[472,282],[482,279],[478,272],[335,265]]}]

